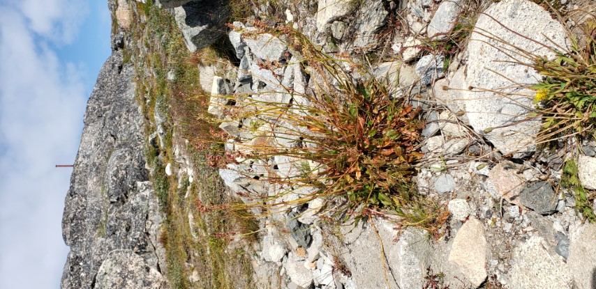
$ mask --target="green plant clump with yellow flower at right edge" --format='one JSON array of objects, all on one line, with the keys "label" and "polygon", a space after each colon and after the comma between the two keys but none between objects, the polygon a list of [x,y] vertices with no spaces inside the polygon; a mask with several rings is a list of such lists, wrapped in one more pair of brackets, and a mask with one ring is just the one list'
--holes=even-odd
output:
[{"label": "green plant clump with yellow flower at right edge", "polygon": [[542,117],[540,141],[560,136],[588,136],[596,127],[596,22],[583,26],[586,44],[571,36],[568,52],[537,56],[533,68],[544,78],[532,86]]}]

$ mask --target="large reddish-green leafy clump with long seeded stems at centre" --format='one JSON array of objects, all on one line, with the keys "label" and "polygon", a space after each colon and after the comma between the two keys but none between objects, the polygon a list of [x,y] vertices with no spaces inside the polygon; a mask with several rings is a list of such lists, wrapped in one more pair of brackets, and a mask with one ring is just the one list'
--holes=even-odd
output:
[{"label": "large reddish-green leafy clump with long seeded stems at centre", "polygon": [[[281,94],[292,99],[290,104],[274,100],[279,95],[275,91],[270,99],[267,94],[265,99],[228,96],[235,103],[229,115],[243,120],[247,125],[240,130],[254,136],[239,144],[242,153],[237,159],[253,168],[241,173],[280,188],[274,196],[245,197],[265,199],[268,208],[339,197],[345,202],[334,210],[347,212],[346,219],[376,215],[404,226],[438,228],[445,221],[442,210],[419,196],[412,184],[415,164],[422,157],[417,150],[424,127],[419,109],[405,97],[394,97],[394,91],[348,56],[325,54],[290,26],[271,28],[258,21],[253,26],[258,30],[251,33],[287,39],[292,53],[308,60],[288,65],[299,65],[314,87],[304,92],[283,87]],[[262,65],[274,73],[279,67],[280,63]],[[268,128],[262,129],[264,125]],[[272,166],[276,157],[287,159],[294,169]]]}]

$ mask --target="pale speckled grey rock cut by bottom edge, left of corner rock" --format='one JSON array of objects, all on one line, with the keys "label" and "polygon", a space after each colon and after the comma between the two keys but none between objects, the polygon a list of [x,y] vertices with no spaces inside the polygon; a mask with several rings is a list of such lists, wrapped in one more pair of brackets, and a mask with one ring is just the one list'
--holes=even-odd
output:
[{"label": "pale speckled grey rock cut by bottom edge, left of corner rock", "polygon": [[513,251],[511,270],[507,274],[507,288],[572,288],[569,267],[561,256],[550,254],[545,247],[544,239],[538,236],[518,244]]}]

